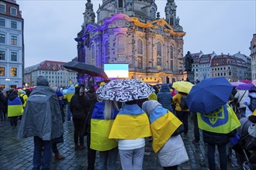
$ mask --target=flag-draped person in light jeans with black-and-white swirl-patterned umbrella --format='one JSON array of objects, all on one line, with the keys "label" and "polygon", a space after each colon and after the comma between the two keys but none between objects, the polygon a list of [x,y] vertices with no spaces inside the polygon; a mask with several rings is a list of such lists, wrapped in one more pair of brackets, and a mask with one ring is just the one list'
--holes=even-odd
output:
[{"label": "flag-draped person in light jeans with black-and-white swirl-patterned umbrella", "polygon": [[112,80],[96,91],[101,100],[123,102],[112,124],[109,139],[118,141],[122,168],[142,169],[145,139],[151,136],[147,114],[137,100],[147,98],[154,89],[137,79]]}]

